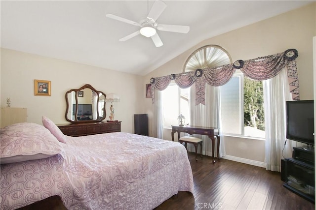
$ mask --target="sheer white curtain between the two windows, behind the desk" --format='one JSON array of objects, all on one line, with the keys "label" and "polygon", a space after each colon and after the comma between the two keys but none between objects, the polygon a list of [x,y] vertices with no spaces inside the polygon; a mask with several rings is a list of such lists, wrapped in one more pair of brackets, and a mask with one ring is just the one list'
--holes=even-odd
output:
[{"label": "sheer white curtain between the two windows, behind the desk", "polygon": [[[197,126],[207,126],[207,127],[221,127],[221,113],[220,113],[220,88],[214,87],[206,84],[205,89],[205,105],[196,105],[195,100],[195,86],[191,86],[189,106],[190,106],[190,120],[191,125]],[[221,132],[220,132],[221,133]],[[211,139],[205,135],[194,135],[203,140],[203,150],[202,154],[212,156],[212,143]],[[223,138],[220,135],[220,150],[219,155],[215,153],[216,156],[221,157],[225,155],[225,147]],[[215,152],[217,148],[217,139],[215,143]],[[195,151],[195,148],[189,144],[189,151]],[[199,152],[199,149],[198,149]]]}]

